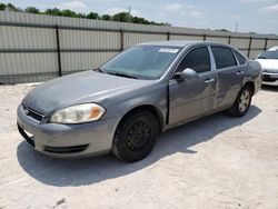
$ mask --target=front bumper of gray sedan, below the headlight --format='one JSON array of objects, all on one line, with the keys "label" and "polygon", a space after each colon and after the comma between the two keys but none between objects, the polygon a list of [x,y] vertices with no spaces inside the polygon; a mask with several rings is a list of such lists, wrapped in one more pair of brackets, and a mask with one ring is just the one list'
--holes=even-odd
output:
[{"label": "front bumper of gray sedan, below the headlight", "polygon": [[27,116],[22,106],[18,108],[18,128],[21,136],[33,149],[52,157],[107,153],[111,150],[117,125],[117,118],[81,125],[43,123]]}]

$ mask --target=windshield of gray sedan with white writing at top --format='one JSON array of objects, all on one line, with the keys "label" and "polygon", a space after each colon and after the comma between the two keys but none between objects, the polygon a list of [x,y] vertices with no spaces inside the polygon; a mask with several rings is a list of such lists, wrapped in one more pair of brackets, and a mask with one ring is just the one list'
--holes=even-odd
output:
[{"label": "windshield of gray sedan with white writing at top", "polygon": [[159,46],[132,47],[100,67],[106,73],[116,76],[159,79],[177,57],[181,48]]}]

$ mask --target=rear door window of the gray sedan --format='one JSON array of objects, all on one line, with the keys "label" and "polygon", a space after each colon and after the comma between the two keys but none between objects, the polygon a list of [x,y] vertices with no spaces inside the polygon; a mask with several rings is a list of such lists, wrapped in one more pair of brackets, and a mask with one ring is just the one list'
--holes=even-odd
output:
[{"label": "rear door window of the gray sedan", "polygon": [[225,47],[211,47],[211,50],[217,69],[237,66],[236,59],[230,49]]}]

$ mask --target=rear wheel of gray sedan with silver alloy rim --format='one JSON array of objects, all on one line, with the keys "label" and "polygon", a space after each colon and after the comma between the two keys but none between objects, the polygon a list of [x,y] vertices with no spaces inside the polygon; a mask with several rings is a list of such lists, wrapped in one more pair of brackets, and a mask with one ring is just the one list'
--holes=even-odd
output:
[{"label": "rear wheel of gray sedan with silver alloy rim", "polygon": [[229,113],[234,117],[245,116],[246,112],[249,110],[251,100],[252,100],[252,90],[249,86],[245,86],[239,91],[236,101],[234,102],[232,107],[229,109]]}]

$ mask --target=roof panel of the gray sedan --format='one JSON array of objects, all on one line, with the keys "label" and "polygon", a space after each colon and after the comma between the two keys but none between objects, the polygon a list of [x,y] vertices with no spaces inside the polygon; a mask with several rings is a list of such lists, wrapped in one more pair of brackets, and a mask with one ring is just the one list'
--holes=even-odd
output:
[{"label": "roof panel of the gray sedan", "polygon": [[[165,46],[165,47],[187,47],[191,44],[197,44],[197,43],[206,43],[206,44],[222,44],[218,42],[211,42],[211,41],[153,41],[153,42],[143,42],[139,43],[139,46]],[[225,44],[222,44],[225,46]],[[227,46],[227,44],[226,44]]]}]

